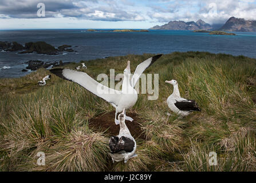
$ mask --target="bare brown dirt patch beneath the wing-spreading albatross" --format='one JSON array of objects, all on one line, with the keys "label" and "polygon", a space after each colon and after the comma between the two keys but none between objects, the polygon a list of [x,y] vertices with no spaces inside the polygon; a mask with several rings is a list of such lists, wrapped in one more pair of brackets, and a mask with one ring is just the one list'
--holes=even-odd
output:
[{"label": "bare brown dirt patch beneath the wing-spreading albatross", "polygon": [[[136,114],[127,113],[127,116],[133,118],[133,122],[125,121],[129,131],[134,138],[145,139],[145,135],[140,128],[139,118]],[[93,129],[99,129],[101,132],[106,131],[111,136],[117,136],[119,134],[119,125],[115,124],[115,112],[110,112],[106,114],[100,114],[99,116],[92,118],[89,121],[89,127]]]}]

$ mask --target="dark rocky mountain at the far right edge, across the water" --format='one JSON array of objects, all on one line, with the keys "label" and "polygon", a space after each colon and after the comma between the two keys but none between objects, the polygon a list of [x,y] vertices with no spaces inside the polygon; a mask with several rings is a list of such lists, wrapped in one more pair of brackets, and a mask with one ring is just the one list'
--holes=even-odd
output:
[{"label": "dark rocky mountain at the far right edge, across the water", "polygon": [[243,18],[231,17],[220,31],[256,32],[256,21],[246,21]]}]

